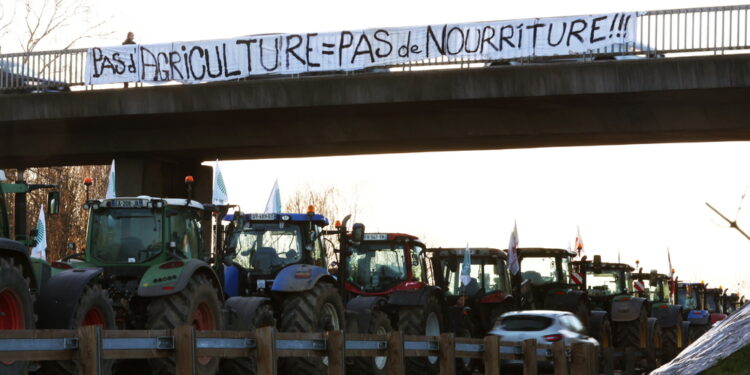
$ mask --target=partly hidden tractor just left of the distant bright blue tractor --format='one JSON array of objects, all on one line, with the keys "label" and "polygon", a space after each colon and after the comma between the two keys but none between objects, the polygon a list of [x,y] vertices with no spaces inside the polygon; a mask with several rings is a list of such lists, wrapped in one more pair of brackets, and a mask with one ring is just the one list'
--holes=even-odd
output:
[{"label": "partly hidden tractor just left of the distant bright blue tractor", "polygon": [[682,306],[672,303],[672,278],[652,270],[644,274],[639,269],[633,275],[634,292],[638,297],[646,298],[649,305],[649,316],[656,318],[661,327],[662,359],[671,361],[688,344],[690,322],[683,320]]}]

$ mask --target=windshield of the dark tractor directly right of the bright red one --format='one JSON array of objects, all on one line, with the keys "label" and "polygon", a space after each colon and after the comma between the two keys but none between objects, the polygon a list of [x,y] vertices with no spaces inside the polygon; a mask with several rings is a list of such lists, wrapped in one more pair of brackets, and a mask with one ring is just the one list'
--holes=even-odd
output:
[{"label": "windshield of the dark tractor directly right of the bright red one", "polygon": [[484,293],[493,293],[497,291],[505,290],[504,280],[502,273],[496,272],[502,270],[504,265],[503,261],[493,258],[471,258],[471,272],[469,283],[464,285],[461,282],[461,268],[463,267],[463,256],[459,257],[457,263],[458,267],[456,271],[450,269],[448,260],[445,259],[442,262],[445,275],[445,280],[448,283],[448,290],[446,293],[449,295],[467,295],[474,296],[480,289],[484,290]]}]

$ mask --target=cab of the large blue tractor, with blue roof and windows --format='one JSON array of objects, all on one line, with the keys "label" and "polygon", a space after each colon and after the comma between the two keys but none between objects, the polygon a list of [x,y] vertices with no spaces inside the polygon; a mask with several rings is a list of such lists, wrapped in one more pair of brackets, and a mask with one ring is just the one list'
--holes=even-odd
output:
[{"label": "cab of the large blue tractor, with blue roof and windows", "polygon": [[327,258],[320,234],[328,219],[313,210],[311,207],[307,214],[227,215],[224,218],[230,222],[224,250],[227,295],[267,295],[275,289],[282,270],[292,266],[317,266],[315,271],[295,268],[296,280],[307,281],[318,276],[311,272],[325,270]]}]

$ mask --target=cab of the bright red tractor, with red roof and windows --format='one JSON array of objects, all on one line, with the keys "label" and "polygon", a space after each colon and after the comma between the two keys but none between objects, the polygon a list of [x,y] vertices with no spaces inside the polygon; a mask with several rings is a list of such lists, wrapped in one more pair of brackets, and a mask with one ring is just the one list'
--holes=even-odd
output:
[{"label": "cab of the bright red tractor, with red roof and windows", "polygon": [[346,290],[357,295],[388,295],[427,283],[425,245],[403,233],[366,233],[349,247]]}]

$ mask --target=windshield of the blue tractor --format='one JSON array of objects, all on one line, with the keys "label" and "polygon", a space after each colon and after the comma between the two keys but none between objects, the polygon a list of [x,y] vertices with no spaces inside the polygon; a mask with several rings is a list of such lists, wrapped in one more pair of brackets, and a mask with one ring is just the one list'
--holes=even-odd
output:
[{"label": "windshield of the blue tractor", "polygon": [[229,240],[235,249],[234,263],[257,274],[271,274],[302,259],[302,236],[298,226],[245,223]]}]

